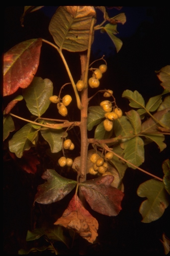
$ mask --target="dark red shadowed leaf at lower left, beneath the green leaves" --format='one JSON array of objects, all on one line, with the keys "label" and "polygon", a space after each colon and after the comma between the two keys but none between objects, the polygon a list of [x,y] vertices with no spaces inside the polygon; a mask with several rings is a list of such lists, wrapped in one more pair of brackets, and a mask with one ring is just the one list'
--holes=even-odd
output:
[{"label": "dark red shadowed leaf at lower left, beneath the green leaves", "polygon": [[12,152],[10,152],[10,156],[24,171],[33,174],[37,172],[37,165],[40,164],[40,162],[36,156],[31,155],[29,152],[24,152],[22,158],[16,157],[16,155]]}]

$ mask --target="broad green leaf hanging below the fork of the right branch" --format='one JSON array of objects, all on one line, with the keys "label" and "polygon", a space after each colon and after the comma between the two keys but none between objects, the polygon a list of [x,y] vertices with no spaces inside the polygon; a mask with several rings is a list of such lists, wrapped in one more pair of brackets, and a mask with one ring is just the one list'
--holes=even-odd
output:
[{"label": "broad green leaf hanging below the fork of the right branch", "polygon": [[[144,143],[141,138],[136,136],[124,143],[124,158],[130,163],[139,166],[144,162]],[[135,167],[128,164],[128,167],[136,169]]]}]

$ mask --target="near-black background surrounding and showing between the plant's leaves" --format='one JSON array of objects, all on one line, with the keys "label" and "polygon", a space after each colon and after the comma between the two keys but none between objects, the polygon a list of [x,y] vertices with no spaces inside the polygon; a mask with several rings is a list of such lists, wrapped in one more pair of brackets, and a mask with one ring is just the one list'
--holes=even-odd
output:
[{"label": "near-black background surrounding and showing between the plant's leaves", "polygon": [[[48,32],[48,24],[51,15],[55,13],[55,8],[48,6],[28,14],[24,20],[24,27],[21,27],[20,17],[23,10],[24,7],[21,6],[5,8],[4,52],[31,38],[42,37],[53,42]],[[130,107],[128,101],[122,98],[124,90],[137,90],[142,94],[145,102],[163,91],[155,71],[170,65],[169,9],[167,7],[123,7],[121,11],[108,9],[110,17],[121,12],[125,12],[127,17],[124,25],[118,24],[118,37],[123,41],[122,49],[116,53],[111,39],[97,31],[92,46],[91,62],[105,55],[108,70],[101,79],[100,88],[113,89],[118,106],[125,112],[130,110]],[[99,10],[97,15],[102,19]],[[79,80],[81,73],[79,53],[64,51],[64,54],[75,81]],[[44,43],[36,76],[49,78],[53,82],[56,95],[61,85],[69,82],[59,55]],[[89,90],[89,93],[92,95],[94,91]],[[5,98],[4,105],[6,101]],[[99,102],[100,98],[96,97],[90,105],[97,105]],[[21,115],[28,114],[23,108],[21,112]],[[48,116],[50,115],[53,116],[53,113],[49,110]],[[78,115],[74,109],[70,109],[70,119],[77,120]],[[74,140],[76,144],[76,137]],[[169,144],[167,138],[166,143]],[[168,157],[168,149],[160,153],[156,145],[149,144],[145,147],[145,162],[141,168],[162,177],[162,162]],[[44,165],[49,168],[48,163]],[[129,168],[126,171],[123,210],[117,217],[93,213],[96,214],[95,217],[100,224],[99,242],[88,247],[87,254],[164,255],[159,239],[162,239],[163,232],[170,237],[169,207],[162,218],[149,224],[141,222],[142,218],[138,212],[143,198],[136,195],[136,190],[139,184],[149,178],[138,170]],[[25,237],[27,230],[32,227],[32,214],[39,213],[37,209],[37,212],[32,209],[32,204],[37,184],[42,183],[40,179],[38,174],[25,173],[10,157],[4,162],[4,254],[17,254],[19,249],[26,246]],[[62,204],[59,206],[62,209]],[[43,207],[48,212],[48,208]],[[75,247],[66,254],[74,253],[78,254]]]}]

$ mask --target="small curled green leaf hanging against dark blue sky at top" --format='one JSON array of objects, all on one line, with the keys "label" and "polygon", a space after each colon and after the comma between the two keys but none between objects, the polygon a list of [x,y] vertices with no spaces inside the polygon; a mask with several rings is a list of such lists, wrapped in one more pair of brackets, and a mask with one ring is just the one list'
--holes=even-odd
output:
[{"label": "small curled green leaf hanging against dark blue sky at top", "polygon": [[117,25],[108,23],[103,29],[107,32],[108,36],[112,39],[116,47],[116,51],[119,52],[120,49],[122,48],[123,42],[114,35],[114,34],[118,34]]}]

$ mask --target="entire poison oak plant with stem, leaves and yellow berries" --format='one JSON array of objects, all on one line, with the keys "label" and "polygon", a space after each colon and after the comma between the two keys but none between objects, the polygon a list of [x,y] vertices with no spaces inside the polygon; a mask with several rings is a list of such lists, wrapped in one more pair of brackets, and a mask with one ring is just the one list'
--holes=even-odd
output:
[{"label": "entire poison oak plant with stem, leaves and yellow berries", "polygon": [[[103,22],[99,25],[95,25],[95,8],[103,12]],[[29,152],[32,165],[30,172],[35,173],[42,160],[36,153],[42,139],[49,145],[50,156],[57,156],[56,169],[44,170],[42,174],[45,181],[37,188],[34,205],[64,200],[66,195],[74,191],[68,206],[63,209],[62,216],[55,220],[52,228],[35,227],[27,234],[27,241],[45,236],[50,245],[41,250],[48,249],[55,254],[58,252],[53,240],[60,240],[68,246],[63,227],[70,230],[71,237],[78,233],[89,243],[96,241],[99,225],[87,210],[89,206],[103,215],[119,214],[124,197],[122,180],[128,167],[148,175],[148,180],[137,189],[137,195],[146,198],[139,209],[142,222],[149,223],[159,219],[169,205],[170,161],[165,159],[163,162],[162,177],[139,166],[144,162],[145,144],[154,142],[160,151],[167,146],[164,140],[170,134],[170,96],[167,95],[170,91],[170,66],[157,71],[164,90],[160,95],[151,97],[146,104],[138,91],[123,92],[122,97],[129,100],[131,107],[130,111],[123,114],[114,91],[111,90],[114,88],[108,85],[105,90],[100,90],[100,81],[107,73],[106,60],[102,57],[91,64],[89,61],[95,31],[99,29],[109,35],[119,52],[122,41],[115,36],[118,33],[117,24],[124,24],[126,16],[120,13],[110,18],[105,7],[95,8],[58,7],[49,24],[49,32],[55,43],[42,38],[30,39],[4,54],[4,96],[9,97],[23,88],[22,95],[10,100],[4,109],[4,141],[8,141],[11,132],[13,134],[8,141],[11,157],[28,160],[26,155]],[[25,7],[22,22],[29,10]],[[52,81],[36,77],[42,43],[55,48],[69,76],[70,81],[66,80],[60,86],[58,95],[53,95]],[[74,80],[70,72],[63,50],[80,53],[81,74],[78,81]],[[67,93],[68,87],[73,88],[76,105],[72,101],[73,95]],[[89,87],[94,88],[91,97],[88,96]],[[97,94],[102,94],[100,105],[91,104],[88,107]],[[30,112],[29,120],[13,114],[13,109],[22,100],[25,100]],[[51,105],[54,109],[52,119],[45,115]],[[80,120],[67,120],[71,105],[75,112],[80,112]],[[55,118],[56,113],[61,116],[60,119]],[[16,131],[17,119],[23,121],[23,126]],[[70,132],[75,127],[80,129],[81,151],[80,155],[72,158],[75,145]],[[88,131],[94,131],[93,138],[88,137]],[[28,169],[27,166],[23,168]],[[68,171],[76,173],[77,178],[74,179],[75,175],[73,179],[66,178]],[[53,231],[55,238],[52,237]],[[164,236],[164,247],[168,241]],[[37,250],[40,249],[32,248],[30,252]],[[19,251],[19,254],[24,253],[28,251]]]}]

